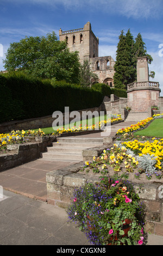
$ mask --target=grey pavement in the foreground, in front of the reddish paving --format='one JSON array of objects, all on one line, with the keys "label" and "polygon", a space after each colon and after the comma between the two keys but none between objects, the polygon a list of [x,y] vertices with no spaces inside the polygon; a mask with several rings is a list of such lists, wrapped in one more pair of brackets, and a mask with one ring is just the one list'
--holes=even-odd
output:
[{"label": "grey pavement in the foreground, in front of the reddish paving", "polygon": [[[89,246],[65,209],[4,190],[0,201],[0,245]],[[163,236],[148,234],[147,245],[163,245]]]}]

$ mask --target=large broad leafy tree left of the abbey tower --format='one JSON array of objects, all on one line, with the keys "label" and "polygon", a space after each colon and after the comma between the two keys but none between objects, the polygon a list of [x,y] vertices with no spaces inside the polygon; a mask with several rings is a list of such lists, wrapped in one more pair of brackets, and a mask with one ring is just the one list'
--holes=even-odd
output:
[{"label": "large broad leafy tree left of the abbey tower", "polygon": [[3,63],[8,71],[23,70],[40,78],[55,77],[72,83],[80,78],[78,52],[70,52],[66,41],[57,40],[54,32],[13,42]]}]

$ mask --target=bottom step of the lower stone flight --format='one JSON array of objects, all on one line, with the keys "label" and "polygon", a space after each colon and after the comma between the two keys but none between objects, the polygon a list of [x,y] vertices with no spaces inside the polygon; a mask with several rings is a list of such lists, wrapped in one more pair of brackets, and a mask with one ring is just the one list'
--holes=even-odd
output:
[{"label": "bottom step of the lower stone flight", "polygon": [[83,156],[82,154],[68,154],[68,153],[64,153],[64,154],[58,154],[58,153],[49,153],[49,152],[45,152],[42,153],[42,158],[43,159],[51,159],[51,161],[55,160],[76,160],[76,161],[82,161],[83,160]]}]

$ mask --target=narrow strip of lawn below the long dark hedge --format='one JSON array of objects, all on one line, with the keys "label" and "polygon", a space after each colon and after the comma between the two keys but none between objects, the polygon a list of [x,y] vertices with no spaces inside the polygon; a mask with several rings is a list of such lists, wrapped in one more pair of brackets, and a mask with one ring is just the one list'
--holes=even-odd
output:
[{"label": "narrow strip of lawn below the long dark hedge", "polygon": [[[96,124],[96,123],[99,122],[99,121],[105,120],[105,118],[106,118],[106,115],[103,115],[103,116],[101,115],[100,118],[99,118],[99,117],[93,117],[92,119],[88,119],[88,120],[89,120],[89,125],[91,126],[91,125],[93,125],[93,124]],[[46,128],[41,128],[41,127],[40,127],[40,129],[41,129],[43,132],[45,132],[45,134],[51,134],[51,133],[53,133],[54,131],[57,131],[57,129],[59,129],[59,128],[61,128],[61,127],[64,127],[65,129],[67,129],[68,126],[69,126],[70,129],[71,129],[71,127],[73,127],[73,126],[78,127],[78,126],[80,126],[80,124],[82,124],[82,126],[85,126],[86,124],[88,124],[88,120],[87,120],[87,121],[86,121],[86,120],[77,121],[77,122],[75,122],[75,123],[73,123],[73,124],[71,123],[70,126],[69,126],[69,125],[56,126],[56,127],[54,127],[54,129],[53,129],[53,127],[46,127]],[[82,123],[82,121],[83,121],[83,123]],[[38,131],[39,129],[32,129],[32,130]]]}]

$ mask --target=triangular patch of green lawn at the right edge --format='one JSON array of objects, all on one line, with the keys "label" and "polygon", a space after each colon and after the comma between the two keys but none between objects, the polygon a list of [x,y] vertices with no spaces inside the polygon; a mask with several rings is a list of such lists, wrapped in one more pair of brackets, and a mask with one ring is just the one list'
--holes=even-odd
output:
[{"label": "triangular patch of green lawn at the right edge", "polygon": [[163,138],[163,118],[155,119],[146,129],[137,131],[134,135]]}]

